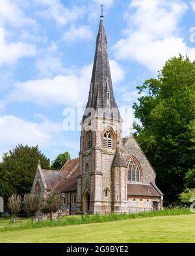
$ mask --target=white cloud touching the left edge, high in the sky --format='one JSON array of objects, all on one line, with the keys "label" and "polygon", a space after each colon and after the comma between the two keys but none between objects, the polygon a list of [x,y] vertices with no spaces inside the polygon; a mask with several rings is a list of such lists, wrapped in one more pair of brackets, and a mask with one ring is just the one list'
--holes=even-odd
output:
[{"label": "white cloud touching the left edge, high in the sky", "polygon": [[5,29],[0,27],[0,66],[4,64],[14,64],[21,57],[34,56],[36,48],[26,42],[6,43]]}]

